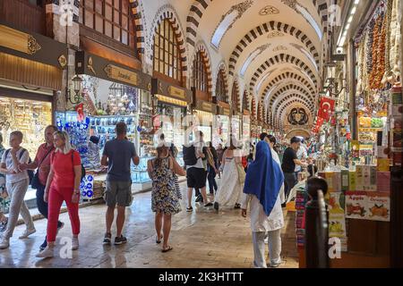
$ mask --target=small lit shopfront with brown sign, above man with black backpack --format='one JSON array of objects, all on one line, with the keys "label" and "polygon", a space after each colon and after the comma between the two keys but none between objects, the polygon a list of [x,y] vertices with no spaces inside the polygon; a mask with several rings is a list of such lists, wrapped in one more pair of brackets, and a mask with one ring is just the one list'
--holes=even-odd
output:
[{"label": "small lit shopfront with brown sign, above man with black backpack", "polygon": [[213,121],[217,115],[217,105],[208,101],[196,100],[196,90],[193,88],[193,115],[197,116],[198,130],[204,134],[205,142],[213,141]]}]

